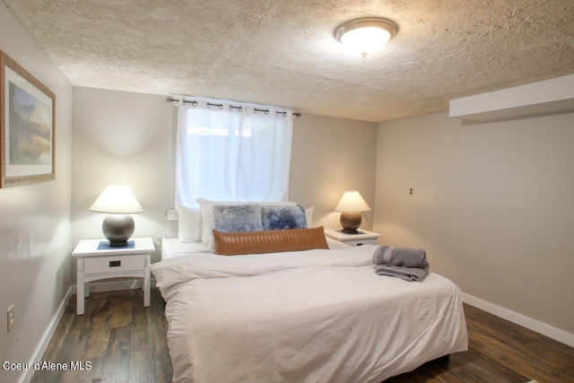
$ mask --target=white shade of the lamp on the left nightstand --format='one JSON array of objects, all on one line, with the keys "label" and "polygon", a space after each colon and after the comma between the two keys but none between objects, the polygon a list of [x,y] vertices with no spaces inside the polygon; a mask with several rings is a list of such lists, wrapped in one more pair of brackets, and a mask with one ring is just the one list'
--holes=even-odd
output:
[{"label": "white shade of the lamp on the left nightstand", "polygon": [[130,214],[143,212],[142,205],[137,202],[132,189],[126,184],[109,184],[101,192],[90,210],[100,213]]}]

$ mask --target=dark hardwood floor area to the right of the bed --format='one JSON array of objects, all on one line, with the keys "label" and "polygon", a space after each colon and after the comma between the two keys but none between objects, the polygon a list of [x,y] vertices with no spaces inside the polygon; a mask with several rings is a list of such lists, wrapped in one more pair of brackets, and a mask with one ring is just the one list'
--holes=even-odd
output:
[{"label": "dark hardwood floor area to the right of the bed", "polygon": [[468,351],[387,382],[574,382],[574,348],[464,305]]}]

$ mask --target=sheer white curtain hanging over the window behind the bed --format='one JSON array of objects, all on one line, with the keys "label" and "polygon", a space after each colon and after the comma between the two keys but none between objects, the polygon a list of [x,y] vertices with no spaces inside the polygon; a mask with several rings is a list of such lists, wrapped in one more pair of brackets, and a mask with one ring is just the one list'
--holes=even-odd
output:
[{"label": "sheer white curtain hanging over the window behind the bed", "polygon": [[176,203],[288,200],[292,111],[195,100],[178,106]]}]

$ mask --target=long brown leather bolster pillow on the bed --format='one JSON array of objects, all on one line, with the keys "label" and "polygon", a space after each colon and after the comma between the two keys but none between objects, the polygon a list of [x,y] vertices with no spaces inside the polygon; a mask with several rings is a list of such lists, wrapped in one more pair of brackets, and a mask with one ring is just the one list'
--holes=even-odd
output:
[{"label": "long brown leather bolster pillow on the bed", "polygon": [[213,239],[215,240],[215,254],[222,256],[329,248],[326,244],[323,226],[279,231],[224,232],[213,230]]}]

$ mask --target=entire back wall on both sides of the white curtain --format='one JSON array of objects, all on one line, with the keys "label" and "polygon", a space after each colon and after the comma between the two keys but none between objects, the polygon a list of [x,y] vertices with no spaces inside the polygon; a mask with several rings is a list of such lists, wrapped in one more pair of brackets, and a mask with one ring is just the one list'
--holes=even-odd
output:
[{"label": "entire back wall on both sides of the white curtain", "polygon": [[[135,237],[177,237],[174,207],[177,116],[165,96],[74,87],[72,240],[101,238],[105,214],[89,210],[109,182],[126,182],[143,213]],[[303,114],[293,122],[291,200],[315,206],[317,225],[338,227],[344,190],[375,200],[377,124]],[[352,157],[352,160],[349,157]],[[363,227],[372,227],[372,212]],[[160,258],[159,250],[152,262]],[[75,280],[75,278],[74,278]]]}]

